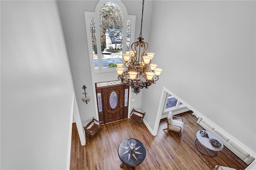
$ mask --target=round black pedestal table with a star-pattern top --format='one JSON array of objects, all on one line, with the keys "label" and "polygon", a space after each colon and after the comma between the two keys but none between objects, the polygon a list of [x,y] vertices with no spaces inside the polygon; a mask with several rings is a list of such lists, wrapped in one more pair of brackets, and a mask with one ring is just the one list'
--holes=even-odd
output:
[{"label": "round black pedestal table with a star-pattern top", "polygon": [[128,152],[128,141],[130,139],[125,139],[124,141],[122,141],[122,143],[120,143],[118,147],[118,156],[122,161],[120,168],[122,168],[124,165],[135,167],[141,164],[141,162],[145,159],[146,149],[138,139],[134,139],[136,141],[135,153],[130,154]]}]

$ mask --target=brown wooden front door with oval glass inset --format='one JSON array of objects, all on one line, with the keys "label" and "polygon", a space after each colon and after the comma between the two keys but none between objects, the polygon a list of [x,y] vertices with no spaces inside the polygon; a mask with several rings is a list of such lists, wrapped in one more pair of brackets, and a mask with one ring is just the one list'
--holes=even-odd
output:
[{"label": "brown wooden front door with oval glass inset", "polygon": [[123,119],[124,86],[103,89],[105,123]]}]

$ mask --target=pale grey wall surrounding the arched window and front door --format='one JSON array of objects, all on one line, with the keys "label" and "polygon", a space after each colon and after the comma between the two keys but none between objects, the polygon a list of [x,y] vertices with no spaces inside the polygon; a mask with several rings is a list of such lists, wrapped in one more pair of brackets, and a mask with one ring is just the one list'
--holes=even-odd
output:
[{"label": "pale grey wall surrounding the arched window and front door", "polygon": [[[142,1],[141,0],[124,0],[122,1],[126,6],[128,15],[136,15],[136,30],[135,38],[137,39],[140,34],[140,21],[142,13]],[[96,117],[98,110],[96,110],[94,102],[94,96],[96,92],[93,91],[95,82],[104,82],[109,80],[117,80],[118,74],[116,70],[114,72],[105,73],[92,73],[90,70],[89,52],[86,35],[86,25],[84,20],[84,11],[94,12],[96,0],[76,1],[76,0],[65,0],[58,1],[62,26],[64,30],[64,36],[66,40],[68,56],[72,71],[72,77],[74,80],[74,88],[76,96],[78,98],[78,107],[81,114],[81,119],[84,125],[88,123],[92,117]],[[152,8],[152,1],[146,1],[144,4],[144,19],[143,19],[143,30],[142,33],[145,41],[149,40],[149,26],[150,26],[150,14]],[[135,39],[135,40],[136,40]],[[137,41],[137,40],[136,40]],[[92,82],[94,81],[94,82]],[[90,96],[91,100],[86,105],[82,102],[83,97],[82,86],[86,84],[86,92]],[[132,93],[135,101],[130,103],[130,107],[140,107],[141,95]]]}]

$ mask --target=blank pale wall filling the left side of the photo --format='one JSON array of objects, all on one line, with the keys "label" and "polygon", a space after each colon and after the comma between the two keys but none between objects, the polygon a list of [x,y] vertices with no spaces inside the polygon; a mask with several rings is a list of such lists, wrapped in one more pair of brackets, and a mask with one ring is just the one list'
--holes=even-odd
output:
[{"label": "blank pale wall filling the left side of the photo", "polygon": [[54,1],[1,1],[1,169],[69,169],[72,78]]}]

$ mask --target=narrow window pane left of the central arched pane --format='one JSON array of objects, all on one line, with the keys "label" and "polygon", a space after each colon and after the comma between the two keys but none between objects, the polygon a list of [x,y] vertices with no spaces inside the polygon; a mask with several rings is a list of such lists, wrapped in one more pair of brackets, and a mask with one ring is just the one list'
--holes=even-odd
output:
[{"label": "narrow window pane left of the central arched pane", "polygon": [[91,29],[92,53],[93,53],[94,68],[98,68],[98,54],[97,54],[96,32],[95,32],[95,20],[92,17],[90,17],[90,29]]}]

